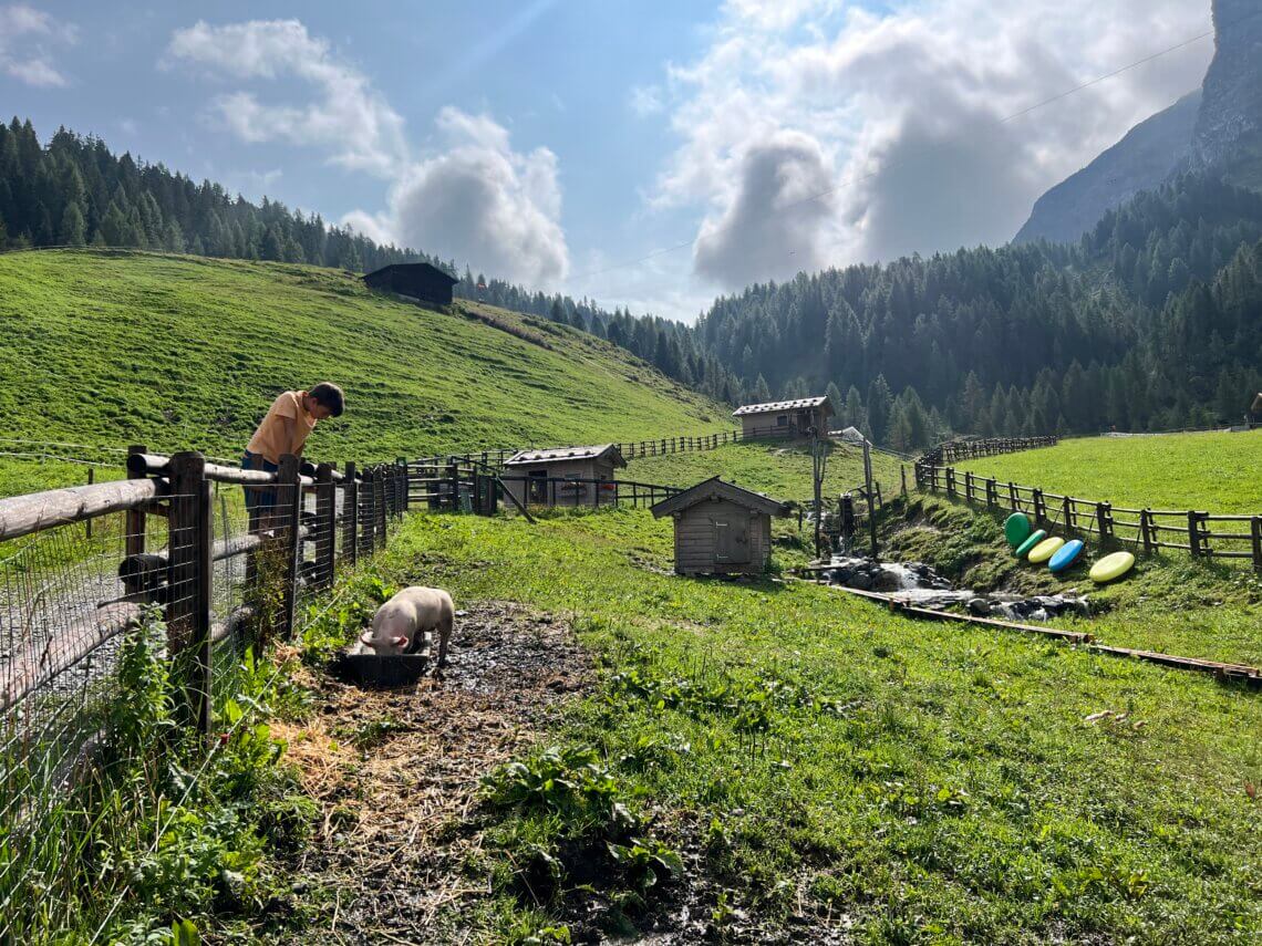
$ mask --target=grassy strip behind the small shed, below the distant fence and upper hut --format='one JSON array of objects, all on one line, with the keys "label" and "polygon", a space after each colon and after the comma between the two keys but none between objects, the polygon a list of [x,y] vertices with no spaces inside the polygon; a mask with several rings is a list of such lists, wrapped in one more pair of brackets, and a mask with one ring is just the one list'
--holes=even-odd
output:
[{"label": "grassy strip behind the small shed, below the distant fence and upper hut", "polygon": [[[703,453],[645,457],[631,462],[628,478],[668,486],[693,486],[722,476],[729,482],[774,496],[777,499],[808,499],[813,494],[810,448],[776,441],[728,444]],[[909,481],[911,470],[907,470]],[[899,460],[885,453],[872,454],[872,478],[881,496],[899,492]],[[824,494],[835,496],[863,483],[863,453],[834,444],[824,472]]]}]

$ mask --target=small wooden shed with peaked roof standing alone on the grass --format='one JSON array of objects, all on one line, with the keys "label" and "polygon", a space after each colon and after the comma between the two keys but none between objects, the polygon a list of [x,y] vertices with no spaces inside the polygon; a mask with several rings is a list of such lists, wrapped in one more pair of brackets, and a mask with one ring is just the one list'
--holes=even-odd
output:
[{"label": "small wooden shed with peaked roof standing alone on the grass", "polygon": [[652,507],[675,520],[675,571],[680,575],[756,575],[771,560],[771,517],[789,507],[762,493],[712,477]]}]

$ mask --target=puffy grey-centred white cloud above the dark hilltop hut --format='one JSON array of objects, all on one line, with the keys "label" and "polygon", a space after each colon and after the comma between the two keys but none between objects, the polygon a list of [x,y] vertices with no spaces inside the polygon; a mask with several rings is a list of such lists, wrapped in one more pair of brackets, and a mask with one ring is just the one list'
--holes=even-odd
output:
[{"label": "puffy grey-centred white cloud above the dark hilltop hut", "polygon": [[507,130],[486,115],[448,106],[437,125],[445,149],[408,168],[389,209],[357,211],[343,223],[501,279],[533,286],[564,279],[557,156],[546,148],[514,151]]}]

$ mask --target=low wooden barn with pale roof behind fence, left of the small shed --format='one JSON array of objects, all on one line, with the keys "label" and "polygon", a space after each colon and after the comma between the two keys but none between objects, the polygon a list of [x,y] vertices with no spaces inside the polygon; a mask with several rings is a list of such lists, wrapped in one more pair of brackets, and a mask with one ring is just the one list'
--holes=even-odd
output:
[{"label": "low wooden barn with pale roof behind fence, left of the small shed", "polygon": [[626,467],[617,444],[555,447],[548,450],[517,450],[504,463],[505,488],[522,505],[599,506],[608,489],[613,502],[613,470]]}]

